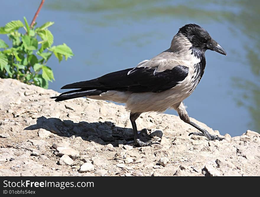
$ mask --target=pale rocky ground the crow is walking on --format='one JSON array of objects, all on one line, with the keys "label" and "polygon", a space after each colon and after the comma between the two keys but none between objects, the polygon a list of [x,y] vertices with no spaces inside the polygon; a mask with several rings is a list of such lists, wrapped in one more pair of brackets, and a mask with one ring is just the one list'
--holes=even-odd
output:
[{"label": "pale rocky ground the crow is walking on", "polygon": [[[58,93],[0,79],[1,176],[259,176],[260,135],[208,141],[179,117],[142,114],[135,147],[124,106],[91,99],[55,102]],[[192,119],[212,134],[205,124]]]}]

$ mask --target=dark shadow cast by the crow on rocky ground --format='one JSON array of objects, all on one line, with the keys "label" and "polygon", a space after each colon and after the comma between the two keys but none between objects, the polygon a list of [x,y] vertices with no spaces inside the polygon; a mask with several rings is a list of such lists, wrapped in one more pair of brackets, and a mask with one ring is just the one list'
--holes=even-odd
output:
[{"label": "dark shadow cast by the crow on rocky ground", "polygon": [[[51,133],[57,134],[61,137],[71,138],[81,137],[86,141],[94,141],[101,145],[113,144],[118,145],[118,140],[124,143],[134,142],[134,134],[132,129],[117,127],[113,122],[73,122],[71,120],[61,120],[59,118],[46,118],[44,116],[38,117],[35,125],[30,125],[24,130],[36,130],[43,128]],[[139,134],[140,138],[148,141],[151,138],[147,134],[147,130],[142,130]],[[115,144],[116,143],[116,144]]]}]

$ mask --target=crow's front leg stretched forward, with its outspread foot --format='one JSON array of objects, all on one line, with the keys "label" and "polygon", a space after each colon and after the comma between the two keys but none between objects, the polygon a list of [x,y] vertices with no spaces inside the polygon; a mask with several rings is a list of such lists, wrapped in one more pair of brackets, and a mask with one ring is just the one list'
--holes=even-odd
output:
[{"label": "crow's front leg stretched forward, with its outspread foot", "polygon": [[189,135],[200,135],[200,136],[205,136],[207,137],[209,140],[223,140],[224,138],[219,137],[218,135],[211,135],[206,129],[196,125],[194,122],[190,121],[189,115],[185,109],[185,106],[183,104],[183,102],[180,102],[176,105],[173,106],[174,109],[178,112],[179,117],[181,118],[181,120],[183,120],[184,122],[190,124],[191,126],[195,127],[196,129],[198,129],[199,131],[201,131],[202,133],[198,133],[198,132],[192,132]]}]

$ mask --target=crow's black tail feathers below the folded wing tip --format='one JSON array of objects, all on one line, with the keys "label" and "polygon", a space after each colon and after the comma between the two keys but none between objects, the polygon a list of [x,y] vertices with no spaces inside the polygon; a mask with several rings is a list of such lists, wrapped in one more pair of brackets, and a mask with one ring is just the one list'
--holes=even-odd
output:
[{"label": "crow's black tail feathers below the folded wing tip", "polygon": [[59,96],[50,97],[50,99],[55,99],[56,102],[58,101],[65,101],[68,99],[75,99],[84,96],[97,96],[103,93],[101,90],[86,90],[86,89],[79,89],[79,90],[72,90],[68,92],[61,93]]}]

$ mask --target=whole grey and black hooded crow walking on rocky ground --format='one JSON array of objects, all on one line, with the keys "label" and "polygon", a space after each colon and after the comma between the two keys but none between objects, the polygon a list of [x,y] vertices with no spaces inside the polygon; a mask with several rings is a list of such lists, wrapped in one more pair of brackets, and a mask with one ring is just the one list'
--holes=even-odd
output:
[{"label": "whole grey and black hooded crow walking on rocky ground", "polygon": [[207,49],[226,55],[225,50],[206,30],[199,25],[187,24],[173,37],[170,48],[152,59],[140,62],[134,68],[65,85],[61,89],[77,90],[51,98],[64,101],[86,96],[91,99],[125,103],[126,109],[130,111],[135,142],[139,146],[148,146],[152,142],[139,139],[135,120],[143,112],[164,112],[168,108],[175,109],[181,120],[200,131],[190,135],[222,140],[223,138],[211,135],[192,122],[183,104],[183,100],[191,95],[204,74]]}]

